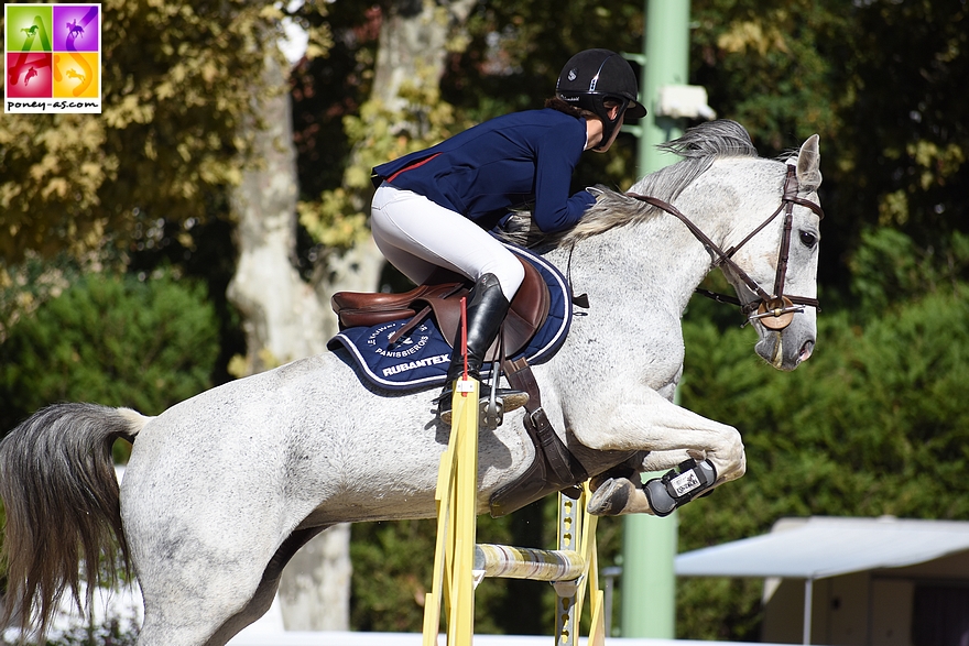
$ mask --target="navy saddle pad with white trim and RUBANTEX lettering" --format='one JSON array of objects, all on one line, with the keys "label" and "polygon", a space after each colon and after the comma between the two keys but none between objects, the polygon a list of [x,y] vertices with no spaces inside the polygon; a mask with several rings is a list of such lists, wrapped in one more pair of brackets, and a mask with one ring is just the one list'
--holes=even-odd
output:
[{"label": "navy saddle pad with white trim and RUBANTEX lettering", "polygon": [[[505,247],[538,271],[551,297],[545,322],[525,347],[509,359],[524,357],[529,363],[542,363],[558,351],[568,335],[573,316],[571,294],[565,277],[548,261],[529,250],[509,244]],[[433,316],[390,344],[391,337],[409,320],[403,318],[374,326],[347,328],[330,339],[327,348],[346,348],[360,368],[359,374],[379,387],[406,391],[444,384],[450,344]],[[491,364],[486,363],[482,377],[490,376],[490,370]]]}]

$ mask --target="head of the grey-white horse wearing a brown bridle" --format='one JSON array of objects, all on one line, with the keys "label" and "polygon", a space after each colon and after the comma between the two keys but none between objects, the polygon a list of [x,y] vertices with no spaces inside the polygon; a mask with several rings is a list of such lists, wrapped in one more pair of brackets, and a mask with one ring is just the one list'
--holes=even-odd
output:
[{"label": "head of the grey-white horse wearing a brown bridle", "polygon": [[[786,161],[781,206],[763,229],[742,233],[723,273],[758,330],[755,351],[779,370],[794,370],[817,339],[817,266],[823,211],[818,135]],[[770,211],[767,211],[770,212]],[[743,267],[743,269],[741,269]]]}]

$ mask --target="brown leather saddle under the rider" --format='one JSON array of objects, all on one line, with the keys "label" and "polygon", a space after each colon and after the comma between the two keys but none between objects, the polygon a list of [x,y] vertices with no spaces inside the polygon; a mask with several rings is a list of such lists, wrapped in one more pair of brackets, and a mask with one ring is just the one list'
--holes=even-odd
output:
[{"label": "brown leather saddle under the rider", "polygon": [[[502,326],[503,351],[513,355],[535,336],[548,316],[551,296],[548,285],[532,263],[519,259],[525,269],[525,280],[519,288]],[[402,294],[337,292],[330,303],[340,321],[340,329],[374,326],[393,320],[409,319],[396,332],[403,337],[428,316],[448,343],[457,337],[461,322],[461,298],[471,291],[471,284],[451,272],[440,272],[427,284]],[[396,339],[392,339],[396,340]],[[488,352],[487,360],[498,359],[498,342]]]}]

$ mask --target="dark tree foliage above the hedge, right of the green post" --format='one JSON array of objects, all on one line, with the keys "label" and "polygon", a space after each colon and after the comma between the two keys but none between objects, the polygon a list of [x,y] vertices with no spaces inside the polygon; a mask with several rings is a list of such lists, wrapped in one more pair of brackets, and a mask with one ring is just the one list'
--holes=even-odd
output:
[{"label": "dark tree foliage above the hedge, right of the green post", "polygon": [[695,0],[692,18],[690,81],[762,155],[820,134],[823,284],[848,292],[870,227],[921,249],[967,232],[965,3]]}]

